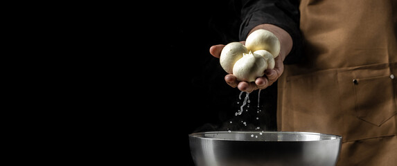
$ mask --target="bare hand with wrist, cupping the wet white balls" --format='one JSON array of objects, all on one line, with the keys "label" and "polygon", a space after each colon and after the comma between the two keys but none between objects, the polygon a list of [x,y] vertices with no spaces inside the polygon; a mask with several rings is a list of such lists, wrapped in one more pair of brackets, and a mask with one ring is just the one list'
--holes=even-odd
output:
[{"label": "bare hand with wrist, cupping the wet white balls", "polygon": [[[290,53],[290,50],[292,48],[292,38],[290,34],[288,34],[282,28],[279,28],[278,26],[274,26],[272,24],[261,24],[253,28],[251,30],[251,33],[254,32],[254,30],[258,29],[269,30],[270,32],[274,33],[277,38],[279,38],[281,45],[280,54],[274,59],[276,62],[274,68],[266,69],[265,75],[263,75],[263,77],[256,78],[255,82],[240,82],[232,74],[228,74],[224,77],[224,80],[227,82],[227,84],[229,84],[229,86],[233,88],[237,87],[238,89],[240,89],[240,91],[252,92],[256,89],[265,89],[267,88],[267,86],[270,86],[274,82],[276,82],[276,80],[281,76],[284,71],[283,61],[288,53]],[[240,43],[245,44],[245,41],[242,41]],[[214,57],[219,58],[224,46],[225,45],[223,44],[211,46],[211,48],[209,48],[209,52]]]}]

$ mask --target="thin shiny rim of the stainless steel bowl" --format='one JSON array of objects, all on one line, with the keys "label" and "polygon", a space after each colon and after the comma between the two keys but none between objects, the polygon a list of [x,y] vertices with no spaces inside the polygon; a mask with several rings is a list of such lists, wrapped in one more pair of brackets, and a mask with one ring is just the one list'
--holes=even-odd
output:
[{"label": "thin shiny rim of the stainless steel bowl", "polygon": [[315,132],[303,132],[303,131],[206,131],[206,132],[197,132],[197,133],[191,133],[188,136],[190,138],[200,138],[200,139],[206,139],[206,140],[229,140],[229,141],[257,141],[257,142],[310,142],[310,141],[329,141],[329,140],[301,140],[301,141],[274,141],[274,140],[233,140],[233,139],[227,139],[227,138],[206,138],[206,137],[201,137],[200,135],[204,135],[207,133],[299,133],[299,134],[310,134],[310,135],[319,135],[319,136],[328,136],[328,137],[335,137],[335,139],[332,140],[342,140],[342,136],[337,136],[334,134],[328,134],[328,133],[315,133]]}]

